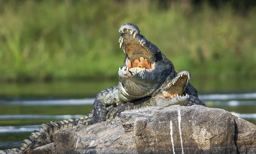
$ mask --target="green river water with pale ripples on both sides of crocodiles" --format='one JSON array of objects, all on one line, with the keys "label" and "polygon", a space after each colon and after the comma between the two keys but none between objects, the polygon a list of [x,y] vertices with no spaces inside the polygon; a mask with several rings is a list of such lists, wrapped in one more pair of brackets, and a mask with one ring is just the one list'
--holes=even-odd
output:
[{"label": "green river water with pale ripples on both sides of crocodiles", "polygon": [[[192,80],[210,108],[223,108],[256,124],[256,81]],[[86,115],[94,97],[117,82],[1,84],[0,149],[17,147],[44,122]]]}]

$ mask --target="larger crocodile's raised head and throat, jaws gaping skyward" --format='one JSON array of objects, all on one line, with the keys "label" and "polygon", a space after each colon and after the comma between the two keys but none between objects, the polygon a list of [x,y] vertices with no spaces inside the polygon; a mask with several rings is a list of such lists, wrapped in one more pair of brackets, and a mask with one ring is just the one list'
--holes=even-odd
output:
[{"label": "larger crocodile's raised head and throat, jaws gaping skyward", "polygon": [[121,102],[151,96],[175,69],[158,47],[140,34],[131,23],[119,28],[119,46],[125,52],[124,64],[119,68],[119,96]]}]

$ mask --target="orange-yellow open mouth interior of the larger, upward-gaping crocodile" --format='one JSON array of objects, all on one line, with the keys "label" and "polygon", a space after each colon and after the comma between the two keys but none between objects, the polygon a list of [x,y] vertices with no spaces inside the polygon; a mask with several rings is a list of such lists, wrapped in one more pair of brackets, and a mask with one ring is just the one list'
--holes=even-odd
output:
[{"label": "orange-yellow open mouth interior of the larger, upward-gaping crocodile", "polygon": [[119,38],[120,48],[127,54],[126,67],[130,71],[140,72],[154,68],[152,57],[155,54],[147,47],[148,41],[137,29],[122,29]]}]

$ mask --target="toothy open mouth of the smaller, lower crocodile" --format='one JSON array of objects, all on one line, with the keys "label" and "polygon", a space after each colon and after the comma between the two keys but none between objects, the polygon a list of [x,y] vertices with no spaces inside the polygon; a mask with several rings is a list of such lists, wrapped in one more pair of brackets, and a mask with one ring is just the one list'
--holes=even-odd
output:
[{"label": "toothy open mouth of the smaller, lower crocodile", "polygon": [[184,96],[188,97],[188,94],[184,91],[189,82],[189,78],[190,73],[188,71],[180,71],[171,81],[166,81],[166,83],[163,84],[163,98],[177,99]]}]

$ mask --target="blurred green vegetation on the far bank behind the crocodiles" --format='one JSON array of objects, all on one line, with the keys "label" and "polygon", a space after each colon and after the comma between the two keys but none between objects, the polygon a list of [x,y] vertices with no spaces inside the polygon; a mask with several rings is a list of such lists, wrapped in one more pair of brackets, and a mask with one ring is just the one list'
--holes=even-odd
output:
[{"label": "blurred green vegetation on the far bank behind the crocodiles", "polygon": [[112,0],[0,0],[0,80],[117,78],[118,29],[134,23],[193,76],[256,75],[255,10]]}]

